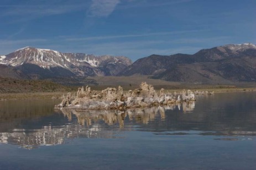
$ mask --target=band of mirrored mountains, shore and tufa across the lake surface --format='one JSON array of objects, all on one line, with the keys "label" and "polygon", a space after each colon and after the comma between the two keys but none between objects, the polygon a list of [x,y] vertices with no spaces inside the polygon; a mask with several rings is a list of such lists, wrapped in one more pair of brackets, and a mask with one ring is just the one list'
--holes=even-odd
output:
[{"label": "band of mirrored mountains, shore and tufa across the lake surface", "polygon": [[195,103],[181,103],[165,108],[55,113],[52,108],[56,102],[51,101],[44,106],[39,105],[42,102],[31,102],[28,107],[17,101],[23,107],[8,105],[9,112],[0,103],[0,142],[33,148],[64,144],[75,138],[124,138],[125,131],[138,130],[156,134],[192,130],[201,135],[256,135],[255,102],[255,92],[230,93],[198,98],[196,107]]}]

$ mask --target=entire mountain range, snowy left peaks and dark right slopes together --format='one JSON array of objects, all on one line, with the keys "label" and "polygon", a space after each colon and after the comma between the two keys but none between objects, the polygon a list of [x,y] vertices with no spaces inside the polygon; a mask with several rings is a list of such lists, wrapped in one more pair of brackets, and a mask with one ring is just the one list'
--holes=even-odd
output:
[{"label": "entire mountain range, snowy left peaks and dark right slopes together", "polygon": [[256,80],[256,45],[224,45],[195,54],[153,54],[134,63],[124,56],[61,53],[34,47],[0,56],[0,76],[17,79],[77,79],[148,75],[167,81],[218,83]]}]

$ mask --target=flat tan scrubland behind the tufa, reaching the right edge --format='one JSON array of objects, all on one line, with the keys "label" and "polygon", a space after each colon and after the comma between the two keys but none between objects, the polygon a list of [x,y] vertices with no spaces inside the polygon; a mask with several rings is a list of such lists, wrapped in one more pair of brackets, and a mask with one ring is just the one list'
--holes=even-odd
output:
[{"label": "flat tan scrubland behind the tufa, reaching the right edge", "polygon": [[164,88],[166,90],[211,90],[211,91],[251,91],[256,89],[256,83],[230,83],[230,84],[200,84],[195,82],[175,82],[164,81],[160,79],[149,79],[147,75],[133,75],[133,76],[97,76],[90,77],[97,81],[97,86],[92,86],[93,90],[102,90],[106,87],[117,87],[121,85],[124,90],[130,90],[139,87],[143,81],[154,86],[156,90]]}]

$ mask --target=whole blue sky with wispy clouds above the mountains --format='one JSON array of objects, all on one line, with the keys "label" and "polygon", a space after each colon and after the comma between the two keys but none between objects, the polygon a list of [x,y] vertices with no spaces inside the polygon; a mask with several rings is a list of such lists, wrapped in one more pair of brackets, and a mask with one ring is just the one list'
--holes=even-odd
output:
[{"label": "whole blue sky with wispy clouds above the mountains", "polygon": [[135,61],[256,44],[255,30],[255,0],[0,1],[1,55],[31,46]]}]

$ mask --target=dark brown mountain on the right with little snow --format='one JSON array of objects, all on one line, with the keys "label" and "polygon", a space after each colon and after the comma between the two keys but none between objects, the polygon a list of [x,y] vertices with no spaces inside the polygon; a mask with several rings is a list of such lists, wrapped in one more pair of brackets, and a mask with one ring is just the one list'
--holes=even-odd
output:
[{"label": "dark brown mountain on the right with little snow", "polygon": [[119,75],[151,75],[168,81],[200,83],[256,80],[256,46],[224,45],[195,54],[151,55],[138,59]]}]

